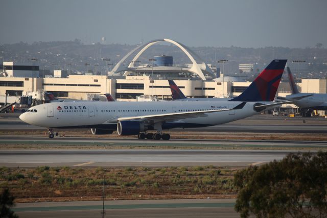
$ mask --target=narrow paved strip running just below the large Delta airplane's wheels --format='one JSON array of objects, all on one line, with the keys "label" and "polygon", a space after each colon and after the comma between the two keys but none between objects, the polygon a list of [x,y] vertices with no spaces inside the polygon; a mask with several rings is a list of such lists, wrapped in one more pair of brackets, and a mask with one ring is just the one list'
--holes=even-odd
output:
[{"label": "narrow paved strip running just below the large Delta airplane's wheels", "polygon": [[171,140],[138,140],[138,139],[107,139],[90,137],[48,137],[39,136],[0,136],[0,144],[11,145],[74,145],[89,146],[90,148],[104,146],[120,147],[196,147],[196,148],[327,148],[326,141],[300,141],[300,140],[211,140],[211,139],[171,139]]}]

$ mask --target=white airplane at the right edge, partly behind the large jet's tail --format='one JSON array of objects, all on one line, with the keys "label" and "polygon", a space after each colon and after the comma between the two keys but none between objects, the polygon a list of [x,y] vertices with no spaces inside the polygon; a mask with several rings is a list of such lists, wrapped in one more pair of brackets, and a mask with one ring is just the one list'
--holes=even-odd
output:
[{"label": "white airplane at the right edge, partly behind the large jet's tail", "polygon": [[301,108],[302,116],[311,116],[314,110],[327,110],[327,94],[300,93],[294,82],[292,72],[287,67],[287,74],[291,86],[292,94],[285,97],[288,101],[296,101],[294,104]]}]

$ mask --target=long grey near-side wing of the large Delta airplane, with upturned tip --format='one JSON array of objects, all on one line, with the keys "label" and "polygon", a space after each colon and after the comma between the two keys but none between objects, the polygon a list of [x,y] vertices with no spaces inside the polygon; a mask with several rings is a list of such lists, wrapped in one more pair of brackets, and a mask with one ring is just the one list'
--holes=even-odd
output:
[{"label": "long grey near-side wing of the large Delta airplane, with upturned tip", "polygon": [[134,117],[121,117],[118,121],[151,121],[153,123],[165,122],[165,121],[175,121],[185,118],[196,118],[196,117],[206,117],[207,113],[223,112],[231,110],[239,110],[244,107],[246,102],[242,102],[236,107],[220,110],[208,110],[208,111],[192,111],[192,112],[179,112],[179,113],[169,113],[169,114],[154,114],[154,115],[144,115],[144,116],[134,116]]}]

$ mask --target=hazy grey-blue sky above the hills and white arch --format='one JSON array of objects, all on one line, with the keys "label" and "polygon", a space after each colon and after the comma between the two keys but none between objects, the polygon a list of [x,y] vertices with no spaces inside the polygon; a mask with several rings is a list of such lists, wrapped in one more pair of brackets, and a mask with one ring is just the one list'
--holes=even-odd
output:
[{"label": "hazy grey-blue sky above the hills and white arch", "polygon": [[81,39],[135,45],[327,48],[326,0],[1,0],[0,45]]}]

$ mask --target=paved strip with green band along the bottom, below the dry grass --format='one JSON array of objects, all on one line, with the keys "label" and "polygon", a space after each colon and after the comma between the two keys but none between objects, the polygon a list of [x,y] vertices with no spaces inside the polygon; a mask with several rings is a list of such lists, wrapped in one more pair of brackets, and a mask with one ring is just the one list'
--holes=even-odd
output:
[{"label": "paved strip with green band along the bottom, below the dry grass", "polygon": [[[235,199],[106,201],[105,217],[239,217]],[[99,217],[101,201],[21,203],[14,211],[30,217]]]}]

